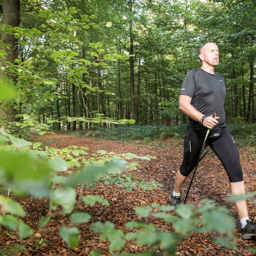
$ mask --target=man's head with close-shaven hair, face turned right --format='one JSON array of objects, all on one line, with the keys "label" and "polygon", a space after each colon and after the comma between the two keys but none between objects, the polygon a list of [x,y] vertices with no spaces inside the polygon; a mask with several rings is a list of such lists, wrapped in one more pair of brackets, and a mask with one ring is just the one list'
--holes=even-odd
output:
[{"label": "man's head with close-shaven hair, face turned right", "polygon": [[204,64],[207,64],[211,67],[215,67],[219,64],[219,48],[216,44],[208,43],[205,44],[199,58]]}]

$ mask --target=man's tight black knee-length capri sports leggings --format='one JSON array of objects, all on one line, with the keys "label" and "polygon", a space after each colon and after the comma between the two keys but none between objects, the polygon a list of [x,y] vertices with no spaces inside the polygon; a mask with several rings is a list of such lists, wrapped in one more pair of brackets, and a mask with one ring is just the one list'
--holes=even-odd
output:
[{"label": "man's tight black knee-length capri sports leggings", "polygon": [[[209,145],[213,152],[219,157],[223,164],[230,182],[243,180],[242,167],[239,160],[239,153],[235,141],[228,127],[221,127],[221,134],[218,138],[209,138],[206,145]],[[186,130],[184,138],[184,156],[180,165],[180,173],[188,176],[195,168],[198,157],[203,146],[206,130]]]}]

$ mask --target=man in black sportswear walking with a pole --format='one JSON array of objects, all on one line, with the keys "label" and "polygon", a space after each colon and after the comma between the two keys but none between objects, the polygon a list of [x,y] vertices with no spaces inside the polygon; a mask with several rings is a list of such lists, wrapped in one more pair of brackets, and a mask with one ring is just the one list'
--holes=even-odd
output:
[{"label": "man in black sportswear walking with a pole", "polygon": [[[206,130],[211,129],[206,145],[219,157],[230,181],[232,195],[245,194],[243,173],[236,144],[226,124],[224,100],[225,77],[214,71],[219,64],[219,49],[206,43],[199,49],[201,68],[186,75],[180,90],[180,109],[188,116],[184,156],[175,176],[174,190],[169,196],[172,205],[180,204],[180,188],[196,166]],[[212,117],[216,113],[215,117]],[[214,137],[215,136],[215,137]],[[243,239],[256,237],[256,224],[249,220],[246,200],[236,201]]]}]

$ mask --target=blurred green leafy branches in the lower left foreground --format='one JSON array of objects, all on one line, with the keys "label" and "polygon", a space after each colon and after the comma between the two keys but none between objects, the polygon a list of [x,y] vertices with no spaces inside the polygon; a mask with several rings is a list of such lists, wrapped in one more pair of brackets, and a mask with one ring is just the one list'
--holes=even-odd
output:
[{"label": "blurred green leafy branches in the lower left foreground", "polygon": [[[55,216],[58,206],[61,206],[61,214],[71,214],[70,223],[78,224],[88,222],[90,215],[84,212],[76,212],[76,187],[77,185],[91,186],[92,183],[99,181],[104,176],[120,173],[129,164],[123,159],[141,158],[150,160],[150,156],[136,156],[135,154],[108,153],[99,150],[89,157],[85,147],[68,147],[62,149],[49,148],[44,145],[42,148],[40,142],[32,144],[23,139],[16,138],[8,134],[3,129],[0,136],[2,147],[1,156],[5,161],[1,161],[1,186],[5,189],[11,189],[15,196],[24,196],[26,194],[49,198],[50,214],[42,216],[38,220],[39,227],[44,227]],[[83,156],[88,156],[85,159]],[[12,159],[15,159],[13,161]],[[108,163],[108,164],[106,164]],[[74,172],[69,176],[58,175],[58,172],[65,172],[73,166],[84,166],[80,171]],[[131,168],[136,168],[136,164],[130,164]],[[116,178],[117,179],[117,178]],[[111,180],[106,178],[106,182]],[[122,182],[120,182],[122,180]],[[111,182],[118,186],[128,189],[136,188],[137,185],[147,188],[155,188],[158,185],[152,181],[148,185],[144,180],[138,180],[137,183],[131,182],[135,178],[122,175],[120,180]],[[145,183],[145,184],[143,184]],[[81,188],[81,189],[82,189]],[[78,199],[86,204],[94,205],[95,202],[107,204],[108,202],[100,196],[84,196]],[[1,216],[0,224],[5,225],[11,230],[17,231],[22,237],[30,236],[33,230],[20,218],[25,216],[22,207],[15,203],[11,198],[0,196]],[[79,240],[79,230],[73,227],[61,227],[60,236],[70,248],[76,247]],[[9,248],[6,248],[9,249]]]}]

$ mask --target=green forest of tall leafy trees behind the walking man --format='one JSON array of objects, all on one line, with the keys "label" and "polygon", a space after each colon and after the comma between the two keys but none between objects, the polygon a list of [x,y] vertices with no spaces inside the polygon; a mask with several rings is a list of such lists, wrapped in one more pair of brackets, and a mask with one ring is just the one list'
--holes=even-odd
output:
[{"label": "green forest of tall leafy trees behind the walking man", "polygon": [[186,123],[180,86],[200,66],[198,49],[206,42],[220,49],[216,71],[226,77],[227,121],[255,122],[256,22],[249,0],[21,0],[3,1],[2,10],[1,91],[15,90],[8,102],[1,97],[4,126]]}]

